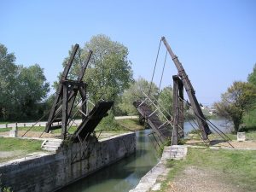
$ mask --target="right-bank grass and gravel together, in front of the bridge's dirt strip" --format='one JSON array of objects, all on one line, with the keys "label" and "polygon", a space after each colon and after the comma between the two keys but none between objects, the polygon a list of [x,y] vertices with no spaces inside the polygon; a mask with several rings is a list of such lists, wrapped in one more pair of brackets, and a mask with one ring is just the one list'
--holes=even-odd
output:
[{"label": "right-bank grass and gravel together, in front of the bridge's dirt strip", "polygon": [[255,160],[255,150],[189,148],[185,160],[168,162],[157,191],[255,191]]}]

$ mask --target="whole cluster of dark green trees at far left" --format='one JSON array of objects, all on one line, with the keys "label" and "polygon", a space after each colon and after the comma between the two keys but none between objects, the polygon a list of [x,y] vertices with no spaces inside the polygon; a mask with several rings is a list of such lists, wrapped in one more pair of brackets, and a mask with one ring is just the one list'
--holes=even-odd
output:
[{"label": "whole cluster of dark green trees at far left", "polygon": [[44,111],[43,99],[49,92],[44,69],[15,65],[15,55],[0,44],[0,119],[38,118]]}]

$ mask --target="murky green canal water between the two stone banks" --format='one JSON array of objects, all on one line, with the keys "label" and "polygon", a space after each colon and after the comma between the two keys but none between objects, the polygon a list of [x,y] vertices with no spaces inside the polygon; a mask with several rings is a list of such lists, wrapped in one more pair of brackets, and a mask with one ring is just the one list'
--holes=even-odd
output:
[{"label": "murky green canal water between the two stone banks", "polygon": [[119,160],[89,177],[84,177],[60,191],[63,192],[128,192],[158,162],[157,152],[150,142],[151,130],[137,131],[137,152]]}]

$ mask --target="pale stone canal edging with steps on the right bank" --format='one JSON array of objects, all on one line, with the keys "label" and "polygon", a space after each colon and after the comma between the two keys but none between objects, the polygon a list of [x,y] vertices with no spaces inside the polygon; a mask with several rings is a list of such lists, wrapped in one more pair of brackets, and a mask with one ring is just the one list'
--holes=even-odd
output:
[{"label": "pale stone canal edging with steps on the right bank", "polygon": [[160,162],[142,177],[135,189],[129,192],[148,192],[160,189],[161,177],[165,178],[170,168],[166,167],[167,160],[182,160],[187,154],[188,148],[182,145],[172,145],[164,148]]}]

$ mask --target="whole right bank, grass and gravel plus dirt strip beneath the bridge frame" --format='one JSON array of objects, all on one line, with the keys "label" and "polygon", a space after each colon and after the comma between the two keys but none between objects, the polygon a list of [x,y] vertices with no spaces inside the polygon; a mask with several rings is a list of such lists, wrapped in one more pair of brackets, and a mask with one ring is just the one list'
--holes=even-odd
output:
[{"label": "whole right bank, grass and gravel plus dirt strip beneath the bridge frame", "polygon": [[169,160],[169,172],[161,177],[158,192],[247,192],[256,190],[256,131],[246,132],[246,141],[237,142],[228,134],[230,144],[210,135],[210,148],[199,136],[189,134],[183,141],[188,146],[184,160]]}]

